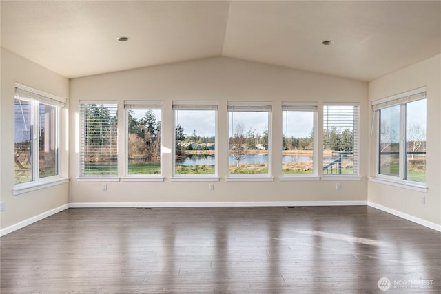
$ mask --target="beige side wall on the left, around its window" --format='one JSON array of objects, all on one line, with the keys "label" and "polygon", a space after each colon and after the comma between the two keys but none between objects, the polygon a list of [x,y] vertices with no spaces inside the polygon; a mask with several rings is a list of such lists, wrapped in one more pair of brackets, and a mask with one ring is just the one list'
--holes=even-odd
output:
[{"label": "beige side wall on the left, around its window", "polygon": [[[14,83],[68,98],[69,81],[21,56],[1,48],[0,107],[0,198],[5,202],[1,211],[1,229],[45,213],[68,203],[68,183],[14,196]],[[68,111],[62,113],[63,125]],[[63,176],[68,174],[66,132],[61,140]]]}]

